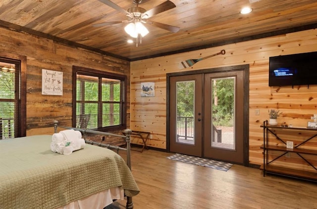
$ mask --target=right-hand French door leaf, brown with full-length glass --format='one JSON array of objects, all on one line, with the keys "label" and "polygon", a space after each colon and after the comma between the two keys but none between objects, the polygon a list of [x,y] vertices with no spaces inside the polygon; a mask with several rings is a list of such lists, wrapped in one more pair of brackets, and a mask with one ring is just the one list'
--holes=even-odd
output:
[{"label": "right-hand French door leaf, brown with full-length glass", "polygon": [[204,157],[243,164],[243,71],[205,74],[204,89]]}]

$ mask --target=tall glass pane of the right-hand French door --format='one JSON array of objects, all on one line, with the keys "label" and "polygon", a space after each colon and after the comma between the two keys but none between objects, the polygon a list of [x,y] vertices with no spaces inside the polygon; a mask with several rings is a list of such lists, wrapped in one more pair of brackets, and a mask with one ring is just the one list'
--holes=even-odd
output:
[{"label": "tall glass pane of the right-hand French door", "polygon": [[235,150],[235,77],[211,82],[211,147]]}]

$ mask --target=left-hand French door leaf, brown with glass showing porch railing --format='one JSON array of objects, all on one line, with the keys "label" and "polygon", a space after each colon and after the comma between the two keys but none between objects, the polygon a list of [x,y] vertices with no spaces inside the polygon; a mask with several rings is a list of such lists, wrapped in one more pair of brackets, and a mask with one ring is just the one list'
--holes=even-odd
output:
[{"label": "left-hand French door leaf, brown with glass showing porch railing", "polygon": [[202,157],[201,74],[170,78],[170,151]]}]

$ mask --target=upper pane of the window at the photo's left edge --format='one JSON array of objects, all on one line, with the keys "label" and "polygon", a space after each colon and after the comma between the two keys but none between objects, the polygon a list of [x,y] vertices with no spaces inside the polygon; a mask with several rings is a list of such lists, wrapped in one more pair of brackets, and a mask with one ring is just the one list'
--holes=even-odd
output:
[{"label": "upper pane of the window at the photo's left edge", "polygon": [[14,99],[14,73],[0,71],[0,98]]}]

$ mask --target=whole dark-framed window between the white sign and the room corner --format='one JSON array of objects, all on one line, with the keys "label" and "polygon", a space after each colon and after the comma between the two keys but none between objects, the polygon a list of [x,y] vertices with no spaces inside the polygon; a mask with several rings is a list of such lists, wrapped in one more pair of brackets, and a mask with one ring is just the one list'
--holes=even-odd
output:
[{"label": "whole dark-framed window between the white sign and the room corner", "polygon": [[126,128],[126,76],[73,67],[73,125],[103,131]]}]

